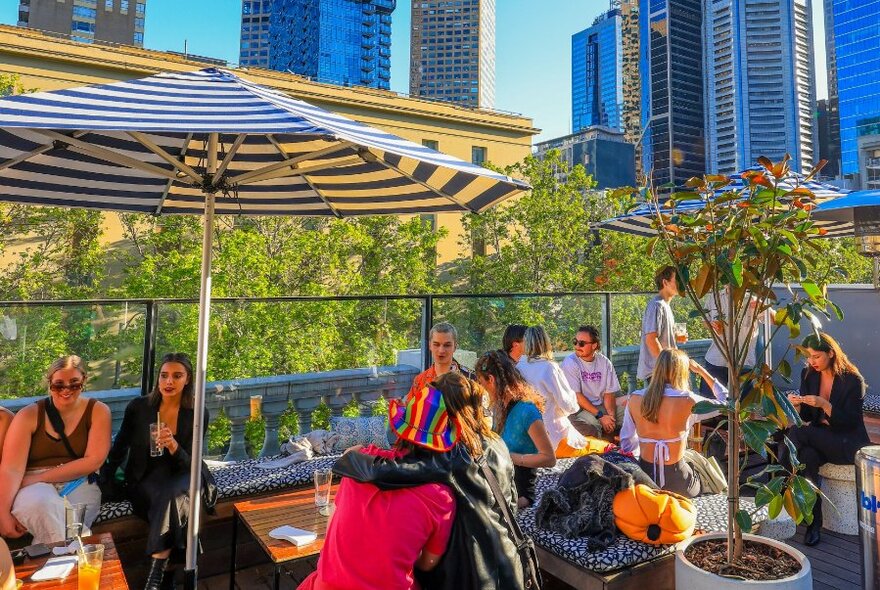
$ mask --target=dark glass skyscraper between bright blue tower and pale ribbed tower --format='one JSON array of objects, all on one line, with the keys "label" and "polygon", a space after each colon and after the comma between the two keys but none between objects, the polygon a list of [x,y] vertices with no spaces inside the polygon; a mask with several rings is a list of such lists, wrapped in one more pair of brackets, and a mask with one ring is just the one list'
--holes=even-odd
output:
[{"label": "dark glass skyscraper between bright blue tower and pale ribbed tower", "polygon": [[702,0],[641,0],[642,161],[656,185],[706,171]]}]

